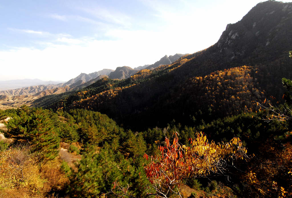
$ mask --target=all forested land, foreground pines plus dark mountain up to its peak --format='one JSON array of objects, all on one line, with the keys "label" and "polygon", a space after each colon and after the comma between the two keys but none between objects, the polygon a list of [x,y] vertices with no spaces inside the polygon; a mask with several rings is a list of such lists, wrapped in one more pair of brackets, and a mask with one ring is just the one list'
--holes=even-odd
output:
[{"label": "all forested land, foreground pines plus dark mountain up to its peak", "polygon": [[292,197],[291,26],[259,3],[205,50],[0,110],[0,197]]}]

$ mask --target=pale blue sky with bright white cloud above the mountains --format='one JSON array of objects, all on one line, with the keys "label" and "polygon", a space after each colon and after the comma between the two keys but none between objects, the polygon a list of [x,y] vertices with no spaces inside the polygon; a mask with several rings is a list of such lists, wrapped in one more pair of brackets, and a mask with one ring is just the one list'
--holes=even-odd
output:
[{"label": "pale blue sky with bright white cloud above the mountains", "polygon": [[0,0],[0,81],[68,81],[215,44],[256,0]]}]

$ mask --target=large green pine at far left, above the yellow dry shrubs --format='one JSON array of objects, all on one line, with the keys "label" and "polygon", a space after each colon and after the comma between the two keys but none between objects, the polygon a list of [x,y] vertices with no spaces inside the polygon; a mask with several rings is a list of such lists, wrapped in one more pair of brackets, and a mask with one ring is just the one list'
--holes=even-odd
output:
[{"label": "large green pine at far left, above the yellow dry shrubs", "polygon": [[58,128],[54,127],[48,111],[22,106],[16,113],[7,124],[8,131],[5,136],[13,137],[19,142],[27,142],[33,152],[42,152],[44,158],[54,159],[59,152],[60,138]]}]

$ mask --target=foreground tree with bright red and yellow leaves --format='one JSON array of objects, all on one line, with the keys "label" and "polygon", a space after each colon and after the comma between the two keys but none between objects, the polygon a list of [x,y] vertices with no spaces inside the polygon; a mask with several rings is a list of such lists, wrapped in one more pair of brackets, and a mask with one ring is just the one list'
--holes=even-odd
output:
[{"label": "foreground tree with bright red and yellow leaves", "polygon": [[[247,150],[239,138],[215,144],[213,141],[208,142],[202,133],[197,133],[196,139],[190,139],[190,142],[189,147],[181,145],[175,134],[172,144],[166,138],[165,146],[159,146],[160,155],[150,157],[145,172],[156,196],[167,197],[174,193],[182,197],[180,185],[187,178],[223,174],[234,160],[247,157]],[[149,158],[147,154],[144,157]]]}]

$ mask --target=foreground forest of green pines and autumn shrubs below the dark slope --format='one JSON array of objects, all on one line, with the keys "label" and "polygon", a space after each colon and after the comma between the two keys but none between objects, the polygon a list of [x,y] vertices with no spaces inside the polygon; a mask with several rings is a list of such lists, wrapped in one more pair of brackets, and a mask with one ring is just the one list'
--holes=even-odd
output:
[{"label": "foreground forest of green pines and autumn shrubs below the dark slope", "polygon": [[283,83],[287,103],[280,108],[264,101],[257,113],[136,132],[84,109],[1,111],[1,119],[13,118],[2,131],[13,142],[0,141],[0,195],[290,197],[292,82]]}]

